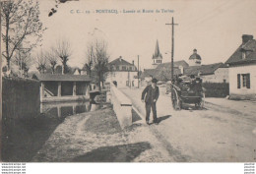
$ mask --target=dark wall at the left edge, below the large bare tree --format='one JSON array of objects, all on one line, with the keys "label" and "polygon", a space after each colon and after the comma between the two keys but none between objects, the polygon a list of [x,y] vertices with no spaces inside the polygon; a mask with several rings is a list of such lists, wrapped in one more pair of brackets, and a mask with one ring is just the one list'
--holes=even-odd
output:
[{"label": "dark wall at the left edge, below the large bare tree", "polygon": [[3,78],[3,118],[21,118],[40,109],[39,82],[20,78]]}]

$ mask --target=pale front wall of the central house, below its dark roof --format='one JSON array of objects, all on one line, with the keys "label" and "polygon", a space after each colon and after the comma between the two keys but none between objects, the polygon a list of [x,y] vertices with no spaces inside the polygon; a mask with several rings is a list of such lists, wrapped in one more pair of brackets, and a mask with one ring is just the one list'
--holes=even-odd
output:
[{"label": "pale front wall of the central house, below its dark roof", "polygon": [[132,87],[138,87],[138,79],[134,78],[135,76],[137,76],[137,74],[137,72],[109,72],[107,74],[105,82],[112,83],[113,81],[116,81],[117,87],[127,87],[126,83],[130,79]]}]

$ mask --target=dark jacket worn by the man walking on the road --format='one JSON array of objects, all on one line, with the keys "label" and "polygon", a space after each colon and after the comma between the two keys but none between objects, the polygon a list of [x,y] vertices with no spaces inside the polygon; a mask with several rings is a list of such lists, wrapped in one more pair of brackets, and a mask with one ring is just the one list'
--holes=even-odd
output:
[{"label": "dark jacket worn by the man walking on the road", "polygon": [[[146,94],[146,97],[145,97]],[[151,103],[154,101],[154,99],[158,100],[160,96],[160,88],[156,87],[154,89],[151,85],[145,87],[145,89],[142,92],[142,99],[145,99],[145,102]]]}]

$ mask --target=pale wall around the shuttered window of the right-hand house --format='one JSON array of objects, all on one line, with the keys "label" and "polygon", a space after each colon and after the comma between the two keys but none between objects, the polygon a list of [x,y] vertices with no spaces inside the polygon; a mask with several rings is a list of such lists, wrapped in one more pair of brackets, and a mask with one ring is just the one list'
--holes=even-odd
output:
[{"label": "pale wall around the shuttered window of the right-hand house", "polygon": [[[229,95],[231,99],[256,98],[256,65],[229,68]],[[250,74],[250,88],[237,87],[237,74]],[[242,83],[242,82],[241,82]]]}]

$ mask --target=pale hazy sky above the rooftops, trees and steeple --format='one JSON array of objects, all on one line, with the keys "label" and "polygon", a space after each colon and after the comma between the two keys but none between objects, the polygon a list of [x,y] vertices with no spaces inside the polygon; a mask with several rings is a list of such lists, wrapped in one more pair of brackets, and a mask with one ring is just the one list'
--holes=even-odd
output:
[{"label": "pale hazy sky above the rooftops, trees and steeple", "polygon": [[[151,68],[158,39],[163,62],[169,62],[171,27],[165,24],[172,17],[178,24],[174,27],[174,61],[188,62],[196,48],[202,64],[225,62],[241,44],[242,34],[256,36],[255,0],[80,0],[59,4],[57,13],[48,17],[55,5],[54,0],[40,1],[40,20],[47,29],[42,46],[34,52],[47,50],[57,39],[68,39],[73,50],[68,64],[80,68],[86,62],[87,45],[96,38],[107,42],[110,61],[122,56],[137,65],[139,55],[142,70]],[[96,13],[104,9],[118,14]],[[154,13],[142,13],[143,9]]]}]

